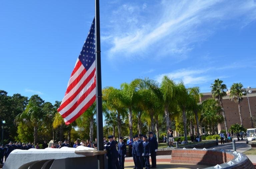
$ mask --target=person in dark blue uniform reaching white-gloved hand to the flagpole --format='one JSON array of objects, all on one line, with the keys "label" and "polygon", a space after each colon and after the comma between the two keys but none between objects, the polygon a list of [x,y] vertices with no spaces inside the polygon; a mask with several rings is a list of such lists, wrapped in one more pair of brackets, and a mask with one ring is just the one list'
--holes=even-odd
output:
[{"label": "person in dark blue uniform reaching white-gloved hand to the flagpole", "polygon": [[104,147],[106,150],[108,150],[108,163],[111,165],[108,165],[109,169],[120,169],[119,163],[118,163],[118,151],[116,150],[116,143],[113,141],[114,136],[110,135],[108,136],[109,144],[105,144]]}]

